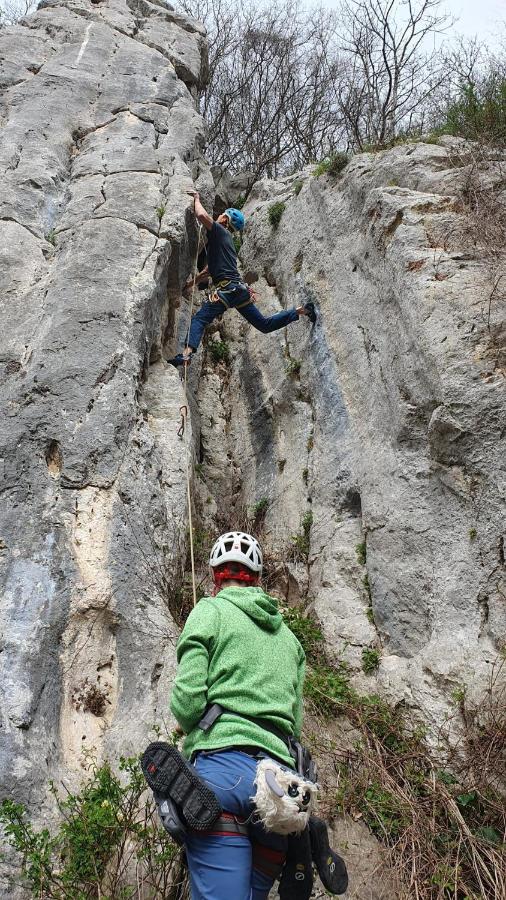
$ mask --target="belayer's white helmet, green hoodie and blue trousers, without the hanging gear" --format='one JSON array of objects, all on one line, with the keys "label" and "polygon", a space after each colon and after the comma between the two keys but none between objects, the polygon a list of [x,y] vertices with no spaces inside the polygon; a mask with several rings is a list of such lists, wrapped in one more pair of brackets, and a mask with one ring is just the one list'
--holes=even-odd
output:
[{"label": "belayer's white helmet, green hoodie and blue trousers, without the hanging gear", "polygon": [[[211,828],[186,839],[192,900],[266,900],[285,861],[287,839],[254,821],[259,755],[292,767],[286,744],[252,719],[300,734],[304,651],[276,601],[259,586],[262,551],[251,535],[231,532],[210,557],[215,596],[188,616],[177,645],[171,710],[185,732],[183,752],[246,834]],[[223,712],[207,731],[206,709]],[[235,715],[234,715],[235,714]]]}]

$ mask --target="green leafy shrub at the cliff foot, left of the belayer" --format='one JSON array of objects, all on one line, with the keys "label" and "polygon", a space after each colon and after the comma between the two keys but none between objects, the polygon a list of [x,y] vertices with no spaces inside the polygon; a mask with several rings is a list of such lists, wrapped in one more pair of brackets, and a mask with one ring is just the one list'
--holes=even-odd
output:
[{"label": "green leafy shrub at the cliff foot, left of the belayer", "polygon": [[88,772],[76,794],[62,797],[51,785],[63,819],[53,835],[35,829],[21,804],[1,804],[0,823],[21,855],[26,886],[34,897],[54,900],[120,900],[139,886],[146,896],[166,896],[179,877],[179,848],[160,827],[154,802],[141,801],[139,761],[122,758],[122,778],[109,763],[89,761]]}]

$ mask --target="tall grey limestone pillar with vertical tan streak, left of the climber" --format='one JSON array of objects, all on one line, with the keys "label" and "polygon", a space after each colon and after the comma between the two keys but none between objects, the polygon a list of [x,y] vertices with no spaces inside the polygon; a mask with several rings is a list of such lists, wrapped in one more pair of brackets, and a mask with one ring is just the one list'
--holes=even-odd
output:
[{"label": "tall grey limestone pillar with vertical tan streak, left of the climber", "polygon": [[0,778],[33,810],[167,715],[187,511],[160,357],[212,179],[203,29],[165,4],[45,2],[0,60]]}]

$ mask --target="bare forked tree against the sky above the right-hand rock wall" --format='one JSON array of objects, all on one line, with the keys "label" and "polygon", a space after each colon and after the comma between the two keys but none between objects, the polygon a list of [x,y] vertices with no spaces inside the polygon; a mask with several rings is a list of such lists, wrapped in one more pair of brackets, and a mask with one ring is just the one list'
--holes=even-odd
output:
[{"label": "bare forked tree against the sky above the right-hand rock wall", "polygon": [[344,0],[342,50],[347,65],[340,109],[349,143],[382,146],[423,124],[425,103],[444,78],[430,35],[448,28],[441,0]]}]

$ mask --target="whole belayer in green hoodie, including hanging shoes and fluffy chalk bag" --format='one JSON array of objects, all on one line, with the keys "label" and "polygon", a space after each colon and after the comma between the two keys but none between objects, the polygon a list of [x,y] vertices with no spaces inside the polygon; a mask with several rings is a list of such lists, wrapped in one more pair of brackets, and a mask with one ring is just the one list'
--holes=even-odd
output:
[{"label": "whole belayer in green hoodie, including hanging shoes and fluffy chalk bag", "polygon": [[150,744],[142,767],[165,828],[183,842],[192,900],[308,900],[312,862],[331,893],[348,884],[325,823],[311,815],[302,722],[304,651],[259,585],[262,551],[229,532],[211,550],[214,581],[177,645],[171,710],[184,756]]}]

